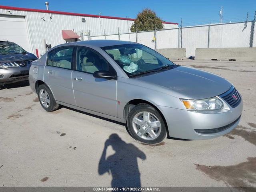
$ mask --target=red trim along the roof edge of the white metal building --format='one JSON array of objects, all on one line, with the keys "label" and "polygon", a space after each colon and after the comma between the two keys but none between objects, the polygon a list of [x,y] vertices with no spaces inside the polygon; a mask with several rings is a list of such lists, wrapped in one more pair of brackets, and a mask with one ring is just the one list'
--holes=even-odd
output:
[{"label": "red trim along the roof edge of the white metal building", "polygon": [[[103,16],[103,15],[91,15],[91,14],[82,14],[82,13],[70,13],[70,12],[63,12],[63,11],[51,11],[51,10],[42,10],[42,9],[31,9],[31,8],[21,8],[21,7],[10,7],[10,6],[2,6],[2,9],[11,9],[11,10],[21,10],[21,11],[34,11],[34,12],[42,12],[42,13],[56,13],[56,14],[64,14],[64,15],[76,15],[76,16],[86,16],[86,17],[100,17],[100,18],[107,18],[107,19],[120,19],[120,20],[130,20],[134,21],[131,18],[124,18],[124,17],[112,17],[112,16]],[[162,22],[166,24],[178,24],[172,22]]]}]

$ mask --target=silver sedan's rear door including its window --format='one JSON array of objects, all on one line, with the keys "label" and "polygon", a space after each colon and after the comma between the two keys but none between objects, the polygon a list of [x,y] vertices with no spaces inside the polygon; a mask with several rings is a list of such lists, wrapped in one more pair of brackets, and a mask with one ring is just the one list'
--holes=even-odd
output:
[{"label": "silver sedan's rear door including its window", "polygon": [[56,48],[48,53],[44,68],[44,81],[56,101],[76,105],[72,87],[72,62],[74,46]]}]

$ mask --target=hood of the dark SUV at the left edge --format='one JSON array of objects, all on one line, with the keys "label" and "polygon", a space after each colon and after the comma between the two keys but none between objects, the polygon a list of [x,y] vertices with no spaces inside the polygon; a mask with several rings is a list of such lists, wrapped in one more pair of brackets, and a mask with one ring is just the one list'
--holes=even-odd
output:
[{"label": "hood of the dark SUV at the left edge", "polygon": [[15,61],[25,61],[25,60],[35,60],[38,59],[34,54],[26,52],[26,54],[0,54],[0,62],[15,62]]}]

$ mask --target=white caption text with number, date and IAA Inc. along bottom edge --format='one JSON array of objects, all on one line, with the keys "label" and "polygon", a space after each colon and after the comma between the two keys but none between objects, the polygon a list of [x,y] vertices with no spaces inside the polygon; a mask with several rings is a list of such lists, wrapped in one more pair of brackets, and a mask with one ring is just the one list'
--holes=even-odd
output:
[{"label": "white caption text with number, date and IAA Inc. along bottom edge", "polygon": [[93,191],[160,191],[157,187],[94,187]]}]

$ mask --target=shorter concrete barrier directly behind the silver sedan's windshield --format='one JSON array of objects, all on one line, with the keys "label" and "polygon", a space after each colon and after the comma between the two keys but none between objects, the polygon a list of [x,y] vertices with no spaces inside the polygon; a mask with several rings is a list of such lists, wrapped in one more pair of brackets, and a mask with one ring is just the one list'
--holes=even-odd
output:
[{"label": "shorter concrete barrier directly behind the silver sedan's windshield", "polygon": [[169,59],[184,59],[186,58],[186,48],[173,48],[173,49],[155,49],[158,53],[162,54]]}]

